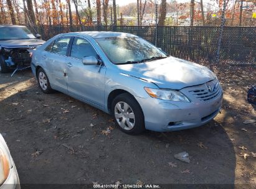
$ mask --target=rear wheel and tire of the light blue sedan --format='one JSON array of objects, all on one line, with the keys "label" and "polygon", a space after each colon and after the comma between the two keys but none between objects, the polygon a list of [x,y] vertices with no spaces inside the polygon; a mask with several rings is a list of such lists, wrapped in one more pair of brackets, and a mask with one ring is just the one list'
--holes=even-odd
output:
[{"label": "rear wheel and tire of the light blue sedan", "polygon": [[42,90],[44,93],[49,94],[53,92],[52,88],[50,87],[49,78],[42,68],[37,70],[37,82],[40,90]]}]

